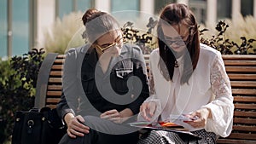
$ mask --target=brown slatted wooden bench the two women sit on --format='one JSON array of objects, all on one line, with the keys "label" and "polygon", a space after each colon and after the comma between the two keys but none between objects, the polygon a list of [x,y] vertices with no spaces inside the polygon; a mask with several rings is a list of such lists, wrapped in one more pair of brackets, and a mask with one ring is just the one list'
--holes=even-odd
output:
[{"label": "brown slatted wooden bench the two women sit on", "polygon": [[[148,65],[148,55],[144,55]],[[54,108],[61,97],[61,75],[65,55],[48,54],[38,74],[35,107]],[[256,55],[223,55],[234,96],[232,133],[218,143],[256,143]],[[147,66],[148,67],[148,66]]]}]

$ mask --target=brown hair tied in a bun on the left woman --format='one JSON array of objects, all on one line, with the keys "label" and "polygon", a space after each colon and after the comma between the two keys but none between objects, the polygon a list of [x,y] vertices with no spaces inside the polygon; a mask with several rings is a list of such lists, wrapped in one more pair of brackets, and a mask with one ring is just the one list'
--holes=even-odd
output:
[{"label": "brown hair tied in a bun on the left woman", "polygon": [[83,37],[87,38],[90,43],[96,43],[97,38],[102,35],[120,29],[118,21],[112,15],[97,9],[88,9],[82,20],[85,26]]}]

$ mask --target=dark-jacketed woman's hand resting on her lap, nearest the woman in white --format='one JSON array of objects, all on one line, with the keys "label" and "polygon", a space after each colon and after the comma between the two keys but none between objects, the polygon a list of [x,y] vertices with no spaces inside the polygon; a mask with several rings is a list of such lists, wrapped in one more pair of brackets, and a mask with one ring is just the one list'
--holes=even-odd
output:
[{"label": "dark-jacketed woman's hand resting on her lap, nearest the woman in white", "polygon": [[123,119],[121,118],[121,114],[116,109],[103,112],[101,114],[101,118],[111,120],[113,123],[117,124],[121,124]]}]

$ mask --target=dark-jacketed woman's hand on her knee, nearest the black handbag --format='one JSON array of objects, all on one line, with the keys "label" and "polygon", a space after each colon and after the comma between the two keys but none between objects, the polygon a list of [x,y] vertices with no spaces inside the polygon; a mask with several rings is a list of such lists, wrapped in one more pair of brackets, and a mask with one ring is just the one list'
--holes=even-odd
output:
[{"label": "dark-jacketed woman's hand on her knee, nearest the black handbag", "polygon": [[65,122],[67,124],[67,135],[72,138],[76,138],[77,136],[84,136],[84,134],[88,134],[90,128],[84,125],[84,118],[80,115],[74,117],[72,113],[67,113],[64,117]]}]

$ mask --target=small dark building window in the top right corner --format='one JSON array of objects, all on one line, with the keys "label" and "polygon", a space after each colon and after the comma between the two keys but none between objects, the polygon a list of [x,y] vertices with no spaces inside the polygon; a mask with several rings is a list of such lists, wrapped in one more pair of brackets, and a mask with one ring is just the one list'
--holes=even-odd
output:
[{"label": "small dark building window in the top right corner", "polygon": [[253,0],[241,1],[241,14],[242,16],[253,15]]}]

